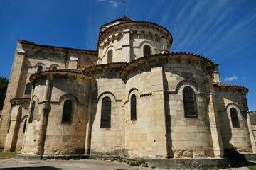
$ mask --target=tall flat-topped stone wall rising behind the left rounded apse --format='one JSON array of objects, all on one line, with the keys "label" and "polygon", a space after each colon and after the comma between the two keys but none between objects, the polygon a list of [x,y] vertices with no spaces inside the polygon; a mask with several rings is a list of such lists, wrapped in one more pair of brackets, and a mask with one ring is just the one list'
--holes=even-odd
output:
[{"label": "tall flat-topped stone wall rising behind the left rounded apse", "polygon": [[[70,60],[70,58],[75,57],[77,60]],[[23,97],[26,84],[30,82],[29,77],[37,72],[39,65],[43,67],[43,71],[51,70],[53,67],[82,70],[85,67],[95,65],[96,60],[97,52],[95,51],[36,45],[33,42],[19,40],[2,113],[0,148],[4,148],[9,119],[11,118],[11,103],[9,101],[12,98]]]}]

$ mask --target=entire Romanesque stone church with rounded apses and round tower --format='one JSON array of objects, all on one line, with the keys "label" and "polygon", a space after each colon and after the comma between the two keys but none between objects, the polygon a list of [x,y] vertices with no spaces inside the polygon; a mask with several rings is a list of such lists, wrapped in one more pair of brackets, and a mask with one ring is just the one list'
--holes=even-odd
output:
[{"label": "entire Romanesque stone church with rounded apses and round tower", "polygon": [[97,50],[18,40],[0,148],[24,155],[221,158],[252,154],[244,86],[218,64],[169,51],[169,30],[123,16],[100,28]]}]

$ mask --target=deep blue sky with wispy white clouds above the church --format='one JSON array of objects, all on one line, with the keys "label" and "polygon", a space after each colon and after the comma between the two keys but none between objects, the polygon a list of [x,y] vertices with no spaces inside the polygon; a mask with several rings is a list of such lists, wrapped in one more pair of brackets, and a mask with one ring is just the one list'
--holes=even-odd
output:
[{"label": "deep blue sky with wispy white clouds above the church", "polygon": [[[255,0],[126,0],[126,16],[168,29],[171,52],[220,64],[223,83],[246,86],[256,111]],[[124,15],[122,0],[0,0],[0,75],[9,77],[18,39],[96,50],[100,26]]]}]

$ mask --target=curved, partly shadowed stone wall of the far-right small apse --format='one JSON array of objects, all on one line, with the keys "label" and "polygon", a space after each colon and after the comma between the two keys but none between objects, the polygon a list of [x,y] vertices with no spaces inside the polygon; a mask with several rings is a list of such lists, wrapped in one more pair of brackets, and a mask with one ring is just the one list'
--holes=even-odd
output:
[{"label": "curved, partly shadowed stone wall of the far-right small apse", "polygon": [[[251,152],[247,113],[243,103],[244,92],[238,89],[216,87],[215,94],[224,149],[235,149],[241,153]],[[232,125],[230,108],[235,108],[238,113],[240,125],[238,128]]]}]

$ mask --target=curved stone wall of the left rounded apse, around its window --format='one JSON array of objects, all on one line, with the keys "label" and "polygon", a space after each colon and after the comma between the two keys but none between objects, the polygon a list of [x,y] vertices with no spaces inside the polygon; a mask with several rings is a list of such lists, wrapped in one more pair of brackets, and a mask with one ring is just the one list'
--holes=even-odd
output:
[{"label": "curved stone wall of the left rounded apse, around its window", "polygon": [[[90,89],[92,78],[69,72],[50,72],[48,76],[52,77],[49,80],[48,100],[46,100],[47,79],[33,79],[35,89],[32,101],[36,101],[36,110],[33,122],[28,123],[23,153],[38,154],[38,145],[40,145],[42,147],[41,154],[84,154],[85,131],[88,122],[89,91],[87,89]],[[62,122],[65,100],[72,101],[70,123]],[[49,105],[47,107],[45,106],[46,101]],[[42,123],[44,118],[46,119],[45,123]],[[46,131],[41,132],[43,130]],[[40,138],[39,135],[43,137]],[[42,140],[42,142],[38,140]]]}]

